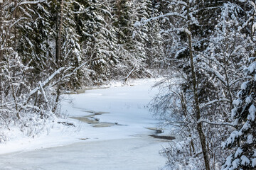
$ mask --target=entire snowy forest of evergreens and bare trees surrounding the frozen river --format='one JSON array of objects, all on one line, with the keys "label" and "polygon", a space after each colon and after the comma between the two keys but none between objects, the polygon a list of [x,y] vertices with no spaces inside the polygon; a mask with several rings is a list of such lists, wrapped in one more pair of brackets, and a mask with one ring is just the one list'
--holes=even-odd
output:
[{"label": "entire snowy forest of evergreens and bare trees surrounding the frozen river", "polygon": [[255,30],[252,0],[0,0],[0,142],[63,118],[68,91],[164,77],[164,169],[256,169]]}]

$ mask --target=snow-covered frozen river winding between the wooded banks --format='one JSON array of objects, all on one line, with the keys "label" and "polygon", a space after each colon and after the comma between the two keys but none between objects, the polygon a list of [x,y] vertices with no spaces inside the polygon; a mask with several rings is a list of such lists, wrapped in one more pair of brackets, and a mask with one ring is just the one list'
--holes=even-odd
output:
[{"label": "snow-covered frozen river winding between the wooded banks", "polygon": [[48,135],[11,138],[0,145],[0,169],[159,169],[165,162],[159,149],[166,142],[149,137],[154,130],[146,129],[158,123],[147,107],[156,81],[65,95],[72,103],[63,101],[68,120],[59,121],[75,127],[55,124]]}]

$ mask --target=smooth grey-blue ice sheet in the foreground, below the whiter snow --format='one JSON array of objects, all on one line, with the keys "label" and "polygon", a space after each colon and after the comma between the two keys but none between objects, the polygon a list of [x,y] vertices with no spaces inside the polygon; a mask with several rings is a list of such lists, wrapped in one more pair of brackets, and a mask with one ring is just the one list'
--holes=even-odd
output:
[{"label": "smooth grey-blue ice sheet in the foreground, below the whiter snow", "polygon": [[150,170],[164,165],[159,141],[149,137],[80,142],[64,147],[1,155],[3,170]]}]

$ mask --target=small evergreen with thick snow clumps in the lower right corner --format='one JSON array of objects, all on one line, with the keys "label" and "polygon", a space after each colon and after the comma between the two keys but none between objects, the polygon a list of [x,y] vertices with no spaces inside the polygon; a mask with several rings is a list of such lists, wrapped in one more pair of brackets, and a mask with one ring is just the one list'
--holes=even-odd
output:
[{"label": "small evergreen with thick snow clumps in the lower right corner", "polygon": [[234,151],[226,159],[223,169],[255,169],[256,167],[256,62],[255,58],[251,58],[251,60],[253,62],[250,67],[245,69],[246,76],[251,78],[241,85],[239,98],[233,101],[235,108],[232,110],[232,116],[237,129],[230,134],[226,142],[223,142],[223,147],[231,148]]}]

